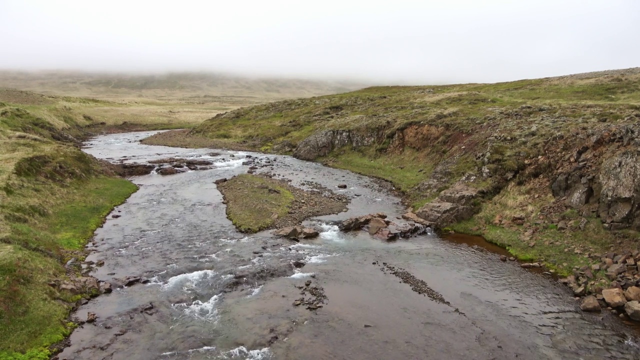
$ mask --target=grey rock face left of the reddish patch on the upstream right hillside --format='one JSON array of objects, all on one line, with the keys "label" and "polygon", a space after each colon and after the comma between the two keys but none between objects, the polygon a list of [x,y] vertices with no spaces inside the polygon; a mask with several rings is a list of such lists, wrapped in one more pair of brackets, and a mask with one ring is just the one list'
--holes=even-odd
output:
[{"label": "grey rock face left of the reddish patch on the upstream right hillside", "polygon": [[323,130],[298,143],[293,156],[301,160],[315,160],[335,149],[351,145],[363,147],[378,140],[378,133],[364,130]]}]

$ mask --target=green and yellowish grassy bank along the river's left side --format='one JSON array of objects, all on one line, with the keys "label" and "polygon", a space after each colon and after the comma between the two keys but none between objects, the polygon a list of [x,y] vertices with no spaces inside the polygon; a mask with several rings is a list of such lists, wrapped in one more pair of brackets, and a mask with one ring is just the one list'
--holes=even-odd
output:
[{"label": "green and yellowish grassy bank along the river's left side", "polygon": [[0,98],[0,359],[46,359],[75,326],[74,303],[90,295],[49,283],[74,275],[64,264],[84,258],[93,231],[136,186],[77,147],[72,136],[90,120],[11,94]]}]

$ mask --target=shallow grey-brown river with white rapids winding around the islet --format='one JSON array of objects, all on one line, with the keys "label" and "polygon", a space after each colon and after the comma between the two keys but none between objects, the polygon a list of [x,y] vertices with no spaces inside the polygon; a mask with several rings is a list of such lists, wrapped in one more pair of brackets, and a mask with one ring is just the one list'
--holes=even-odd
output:
[{"label": "shallow grey-brown river with white rapids winding around the islet", "polygon": [[[152,133],[100,136],[85,151],[215,166],[131,178],[140,190],[96,231],[88,260],[104,259],[100,280],[150,281],[82,306],[76,316],[91,311],[97,322],[74,331],[60,359],[640,359],[634,329],[582,313],[550,275],[499,261],[504,250],[479,238],[383,242],[337,231],[335,220],[403,213],[371,179],[287,156],[138,142]],[[310,220],[324,230],[312,241],[238,233],[213,181],[246,172],[247,155],[267,165],[257,172],[351,197],[349,211]],[[323,307],[293,305],[309,292]]]}]

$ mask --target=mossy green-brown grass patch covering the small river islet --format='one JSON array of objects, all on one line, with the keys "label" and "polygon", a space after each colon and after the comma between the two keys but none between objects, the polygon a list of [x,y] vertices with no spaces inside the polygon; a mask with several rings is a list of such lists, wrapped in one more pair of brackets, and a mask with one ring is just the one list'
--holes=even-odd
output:
[{"label": "mossy green-brown grass patch covering the small river islet", "polygon": [[[293,194],[272,181],[242,174],[218,185],[227,201],[227,217],[243,233],[267,229],[289,213]],[[277,190],[273,192],[272,190]]]}]

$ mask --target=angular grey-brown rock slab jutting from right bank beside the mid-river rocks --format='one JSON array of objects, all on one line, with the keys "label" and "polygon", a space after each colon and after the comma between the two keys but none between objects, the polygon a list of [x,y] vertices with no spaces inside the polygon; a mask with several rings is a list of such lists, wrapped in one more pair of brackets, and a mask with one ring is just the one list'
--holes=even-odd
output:
[{"label": "angular grey-brown rock slab jutting from right bank beside the mid-river rocks", "polygon": [[474,215],[473,200],[478,195],[476,189],[458,184],[440,193],[433,202],[418,209],[415,215],[438,227],[467,220]]}]

